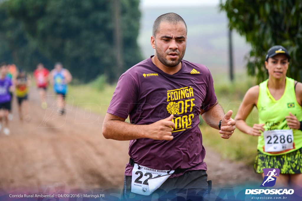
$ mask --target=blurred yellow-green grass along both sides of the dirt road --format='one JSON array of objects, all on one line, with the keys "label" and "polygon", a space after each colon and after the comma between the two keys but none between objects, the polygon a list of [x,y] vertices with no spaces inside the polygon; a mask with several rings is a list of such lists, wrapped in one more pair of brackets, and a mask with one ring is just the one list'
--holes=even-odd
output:
[{"label": "blurred yellow-green grass along both sides of the dirt road", "polygon": [[[247,77],[245,73],[237,74],[234,82],[230,82],[229,77],[223,73],[213,74],[213,79],[220,105],[224,111],[233,110],[232,117],[234,118],[244,94],[251,86],[255,85],[255,80]],[[96,87],[95,83],[71,85],[69,95],[73,97],[73,105],[90,108],[91,111],[104,116],[116,85],[111,86],[102,82],[99,85],[102,87]],[[252,114],[247,119],[251,125],[257,122],[257,110],[255,109]],[[257,146],[256,137],[248,136],[236,129],[230,139],[224,140],[217,130],[212,129],[202,121],[200,128],[205,147],[210,146],[223,157],[231,160],[243,161],[248,165],[254,162]]]}]

